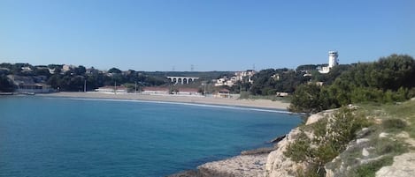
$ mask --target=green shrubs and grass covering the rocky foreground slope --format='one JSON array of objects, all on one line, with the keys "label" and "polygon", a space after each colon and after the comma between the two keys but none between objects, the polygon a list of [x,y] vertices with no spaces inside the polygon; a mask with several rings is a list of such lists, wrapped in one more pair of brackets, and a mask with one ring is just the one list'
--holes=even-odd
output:
[{"label": "green shrubs and grass covering the rocky foreground slope", "polygon": [[[308,165],[307,169],[298,169],[296,176],[325,176],[324,166],[333,170],[334,176],[374,176],[380,167],[391,165],[393,157],[410,150],[411,146],[396,135],[407,131],[413,137],[415,101],[364,103],[358,107],[342,107],[332,117],[300,126],[302,132],[284,152],[293,161]],[[368,141],[353,143],[357,138]],[[366,157],[362,154],[364,148],[369,151]]]}]

